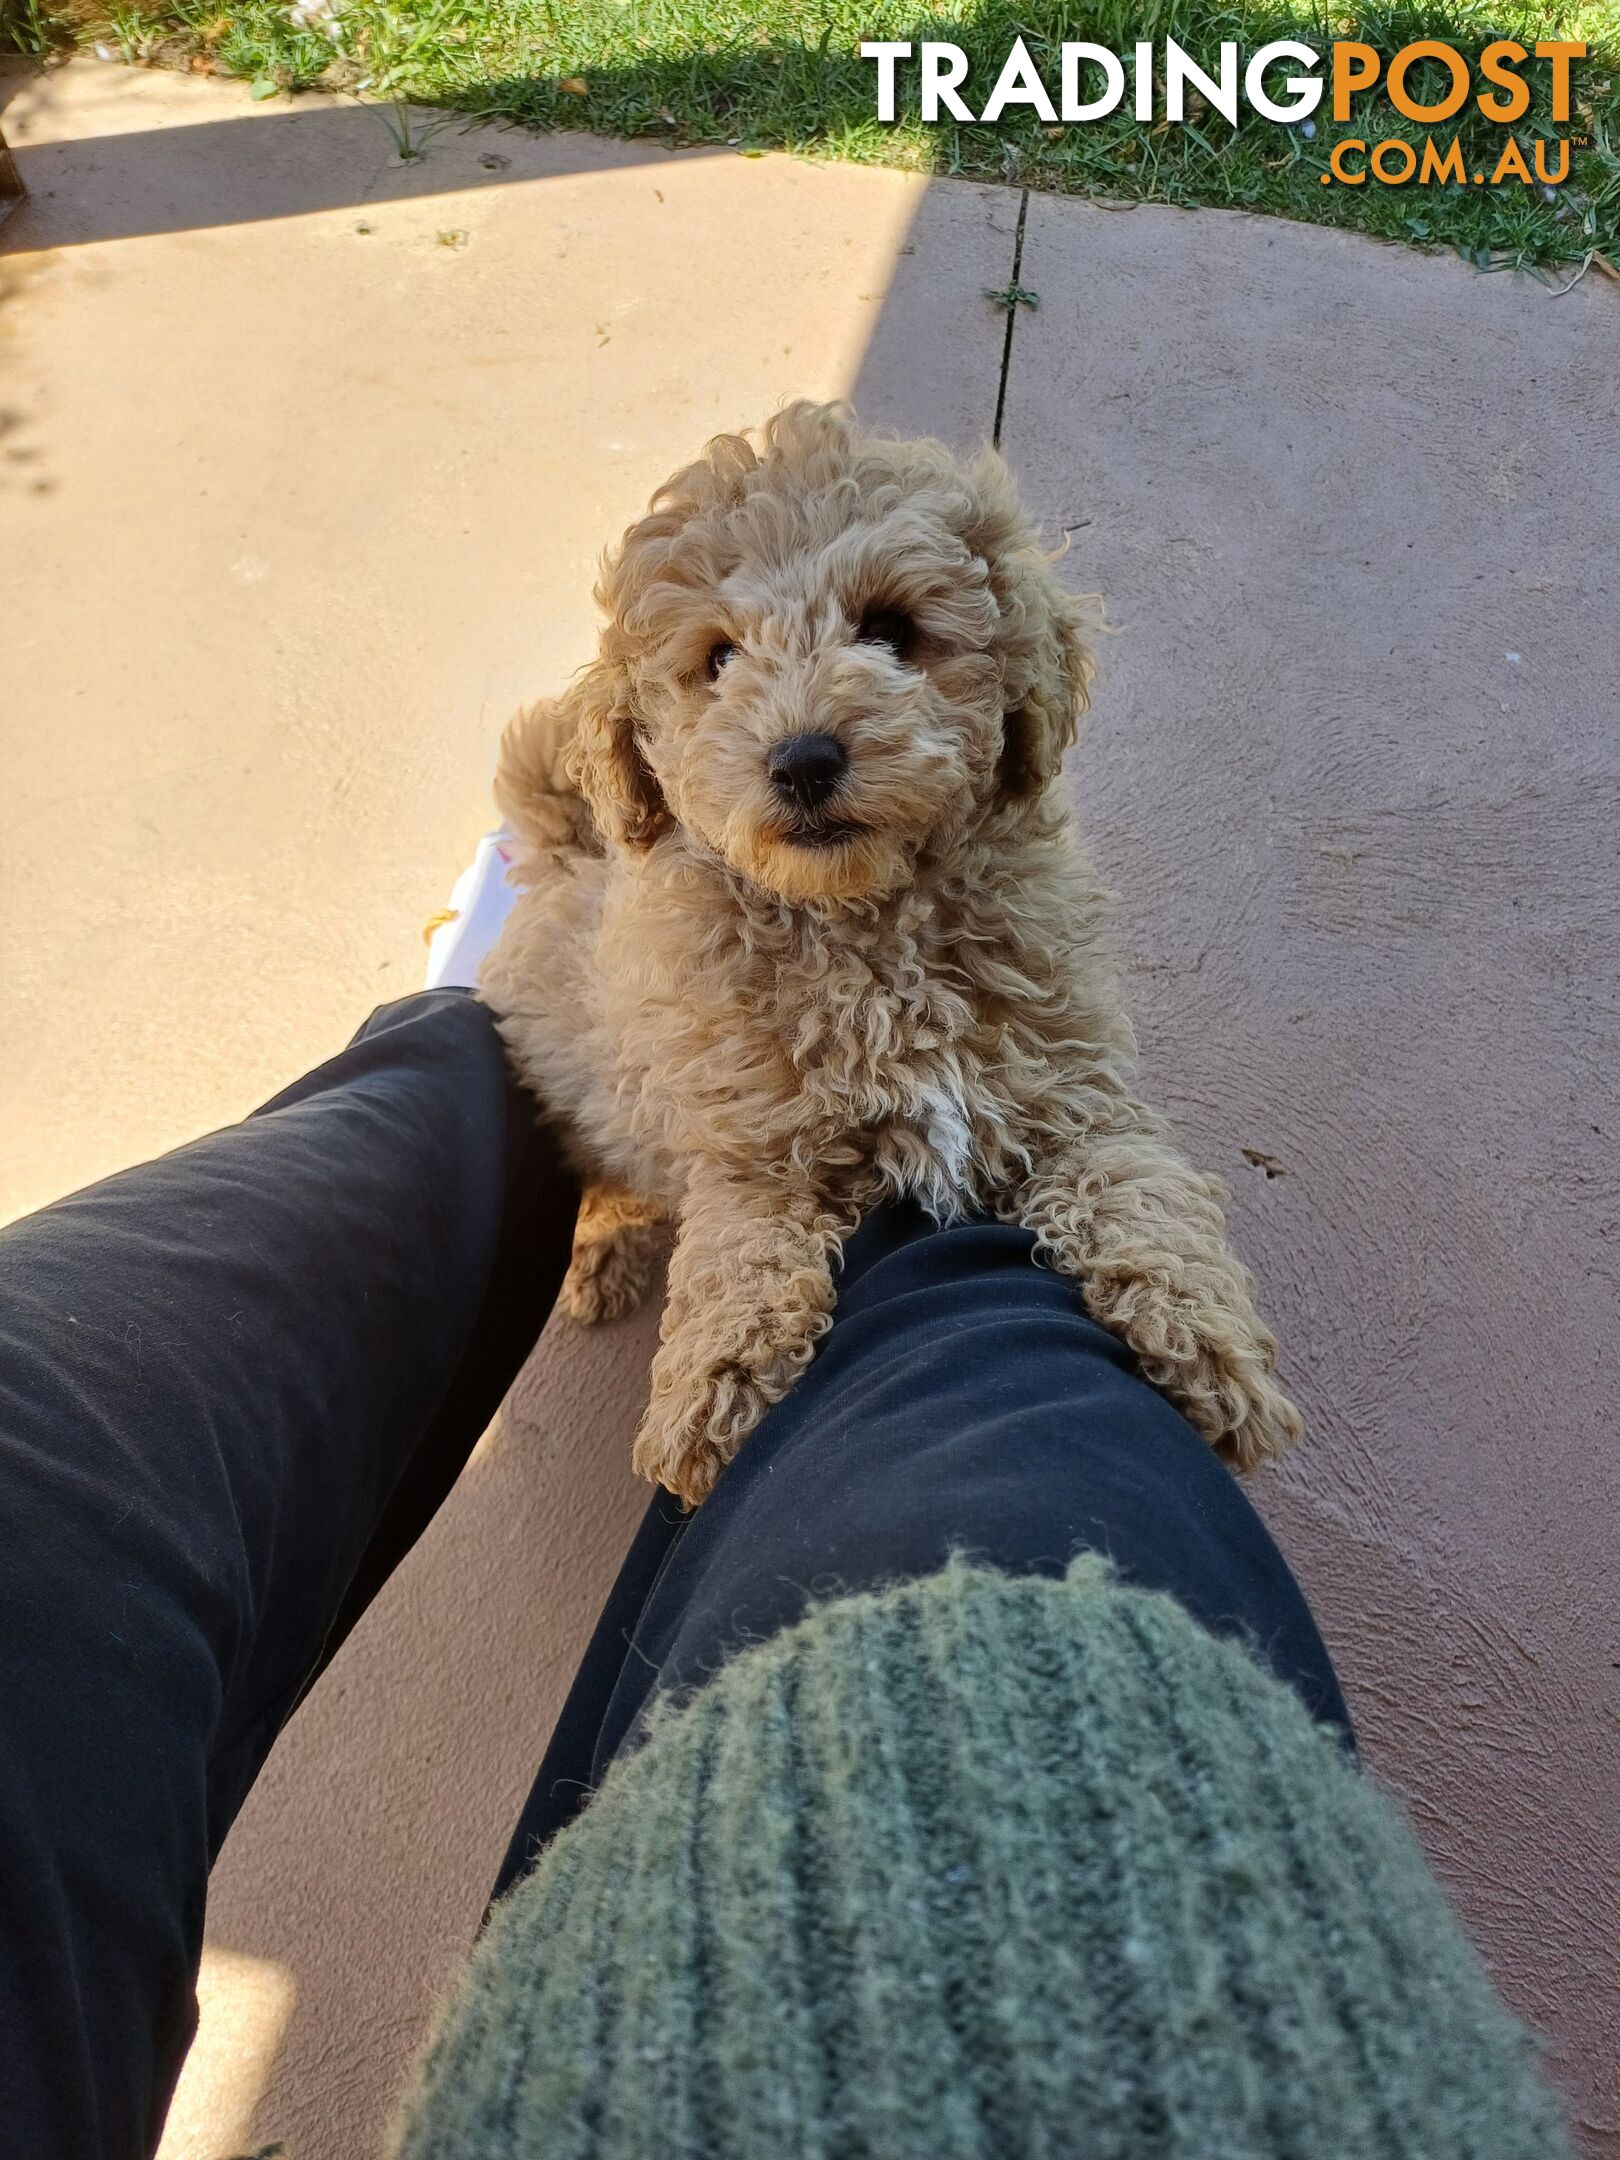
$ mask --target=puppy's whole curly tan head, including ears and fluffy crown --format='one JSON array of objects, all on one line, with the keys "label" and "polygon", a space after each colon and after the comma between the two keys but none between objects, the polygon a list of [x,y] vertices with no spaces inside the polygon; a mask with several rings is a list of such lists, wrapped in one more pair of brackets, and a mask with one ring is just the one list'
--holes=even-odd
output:
[{"label": "puppy's whole curly tan head, including ears and fluffy crown", "polygon": [[[633,836],[670,825],[788,903],[894,892],[1056,767],[1084,654],[1000,462],[797,406],[624,540],[605,598],[609,762]],[[1037,706],[1030,719],[1030,706]],[[596,782],[596,786],[592,786]],[[622,801],[620,801],[622,808]]]}]

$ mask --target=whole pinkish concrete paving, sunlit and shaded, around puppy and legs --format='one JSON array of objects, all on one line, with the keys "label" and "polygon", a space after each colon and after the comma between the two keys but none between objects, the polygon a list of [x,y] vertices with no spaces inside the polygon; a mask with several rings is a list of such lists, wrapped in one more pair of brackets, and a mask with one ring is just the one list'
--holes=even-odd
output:
[{"label": "whole pinkish concrete paving, sunlit and shaded, around puppy and legs", "polygon": [[[1108,596],[1084,819],[1313,1445],[1257,1488],[1583,2149],[1620,2151],[1620,294],[784,158],[13,78],[0,1210],[413,987],[603,540],[797,393],[1004,445]],[[557,1326],[216,1875],[166,2160],[372,2147],[642,1493]]]}]

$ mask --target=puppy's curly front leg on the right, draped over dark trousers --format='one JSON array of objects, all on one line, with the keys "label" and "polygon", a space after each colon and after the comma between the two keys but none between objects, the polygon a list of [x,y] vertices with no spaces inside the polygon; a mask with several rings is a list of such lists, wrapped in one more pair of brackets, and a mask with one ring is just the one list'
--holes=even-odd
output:
[{"label": "puppy's curly front leg on the right, draped over dark trousers", "polygon": [[1071,1149],[1037,1160],[1009,1220],[1080,1283],[1086,1311],[1121,1335],[1143,1374],[1236,1469],[1300,1434],[1272,1380],[1277,1339],[1227,1244],[1220,1186],[1171,1147],[1134,1104]]}]

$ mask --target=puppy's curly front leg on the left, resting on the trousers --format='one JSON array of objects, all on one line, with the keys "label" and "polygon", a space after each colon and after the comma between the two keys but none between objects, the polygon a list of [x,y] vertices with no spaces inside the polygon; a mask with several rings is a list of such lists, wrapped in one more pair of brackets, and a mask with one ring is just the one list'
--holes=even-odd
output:
[{"label": "puppy's curly front leg on the left, resting on the trousers", "polygon": [[778,1182],[711,1173],[680,1212],[635,1467],[689,1506],[793,1387],[832,1326],[853,1212]]}]

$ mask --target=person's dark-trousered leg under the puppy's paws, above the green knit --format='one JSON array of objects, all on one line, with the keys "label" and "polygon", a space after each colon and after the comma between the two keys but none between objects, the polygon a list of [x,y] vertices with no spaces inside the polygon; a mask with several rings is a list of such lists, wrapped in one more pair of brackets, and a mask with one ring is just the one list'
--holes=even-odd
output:
[{"label": "person's dark-trousered leg under the puppy's paws, above the green knit", "polygon": [[961,1551],[1063,1575],[1102,1551],[1244,1637],[1350,1743],[1309,1607],[1238,1482],[996,1223],[890,1210],[849,1244],[832,1333],[693,1516],[659,1495],[596,1629],[495,1894],[596,1788],[657,1691],[698,1687],[812,1598]]}]

